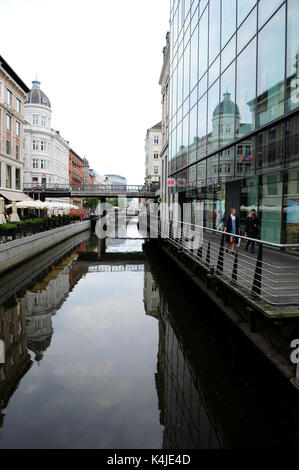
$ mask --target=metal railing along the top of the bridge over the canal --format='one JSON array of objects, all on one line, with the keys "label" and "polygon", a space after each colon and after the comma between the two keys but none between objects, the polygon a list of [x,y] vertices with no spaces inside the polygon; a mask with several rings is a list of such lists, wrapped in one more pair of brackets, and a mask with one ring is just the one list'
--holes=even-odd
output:
[{"label": "metal railing along the top of the bridge over the canal", "polygon": [[84,193],[103,195],[122,194],[146,194],[154,196],[159,189],[159,184],[151,185],[104,185],[104,184],[45,184],[32,185],[25,184],[24,191],[27,193]]}]

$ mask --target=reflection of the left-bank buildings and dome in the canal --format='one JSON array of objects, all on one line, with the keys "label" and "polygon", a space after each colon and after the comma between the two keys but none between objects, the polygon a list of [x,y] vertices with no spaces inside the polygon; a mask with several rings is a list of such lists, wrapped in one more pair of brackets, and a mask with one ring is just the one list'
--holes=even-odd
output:
[{"label": "reflection of the left-bank buildings and dome in the canal", "polygon": [[5,364],[0,365],[0,427],[4,425],[3,411],[33,364],[29,351],[36,361],[43,358],[53,336],[52,317],[87,272],[84,266],[72,265],[78,251],[85,250],[82,242],[46,276],[22,291],[22,297],[14,295],[0,306],[0,339],[5,344]]}]

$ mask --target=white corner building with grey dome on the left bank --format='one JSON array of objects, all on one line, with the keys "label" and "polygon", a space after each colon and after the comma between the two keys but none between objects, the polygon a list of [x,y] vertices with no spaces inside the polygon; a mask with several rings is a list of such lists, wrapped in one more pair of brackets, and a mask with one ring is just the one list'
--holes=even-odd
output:
[{"label": "white corner building with grey dome on the left bank", "polygon": [[51,128],[49,98],[32,82],[24,106],[24,185],[68,185],[69,142]]}]

